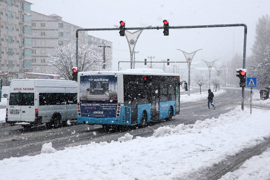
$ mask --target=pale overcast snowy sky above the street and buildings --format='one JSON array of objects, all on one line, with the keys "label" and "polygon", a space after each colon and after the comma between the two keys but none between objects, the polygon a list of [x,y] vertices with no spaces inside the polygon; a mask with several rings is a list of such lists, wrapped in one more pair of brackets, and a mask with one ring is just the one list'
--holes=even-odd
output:
[{"label": "pale overcast snowy sky above the street and buildings", "polygon": [[[27,0],[33,11],[50,15],[57,14],[63,21],[83,28],[113,28],[120,20],[126,27],[163,26],[169,19],[170,26],[210,25],[244,23],[248,26],[247,55],[255,36],[255,23],[262,15],[269,13],[270,1],[86,1],[86,0]],[[90,35],[113,42],[113,68],[119,60],[130,60],[129,47],[119,30],[89,32]],[[185,60],[182,49],[188,53],[197,49],[193,63],[201,59],[222,61],[230,59],[234,53],[243,54],[244,28],[204,28],[170,29],[169,36],[163,30],[143,30],[137,41],[136,60],[155,56],[155,61],[163,59]],[[150,59],[149,59],[150,60]],[[218,61],[217,61],[218,62]],[[160,63],[161,64],[161,63]],[[178,64],[179,65],[179,64]],[[185,65],[186,66],[186,65]],[[123,69],[129,64],[122,65]],[[136,67],[144,67],[143,64]]]}]

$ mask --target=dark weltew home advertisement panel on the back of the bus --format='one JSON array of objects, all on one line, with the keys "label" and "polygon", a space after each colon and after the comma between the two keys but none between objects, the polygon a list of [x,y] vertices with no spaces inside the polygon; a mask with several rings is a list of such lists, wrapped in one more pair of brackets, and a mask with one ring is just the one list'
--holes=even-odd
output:
[{"label": "dark weltew home advertisement panel on the back of the bus", "polygon": [[108,118],[116,116],[117,76],[80,77],[81,116]]}]

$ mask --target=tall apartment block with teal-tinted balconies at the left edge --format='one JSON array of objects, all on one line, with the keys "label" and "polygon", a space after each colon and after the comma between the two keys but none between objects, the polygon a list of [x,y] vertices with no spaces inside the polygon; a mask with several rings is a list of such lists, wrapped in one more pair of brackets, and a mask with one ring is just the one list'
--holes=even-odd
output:
[{"label": "tall apartment block with teal-tinted balconies at the left edge", "polygon": [[0,77],[8,85],[32,70],[30,2],[0,0],[0,37]]}]

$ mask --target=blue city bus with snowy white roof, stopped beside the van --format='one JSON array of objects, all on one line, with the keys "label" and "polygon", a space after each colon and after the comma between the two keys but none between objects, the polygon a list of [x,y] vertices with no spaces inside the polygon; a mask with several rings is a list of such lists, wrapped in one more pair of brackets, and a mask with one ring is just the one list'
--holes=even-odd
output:
[{"label": "blue city bus with snowy white roof, stopped beside the van", "polygon": [[171,120],[180,112],[179,74],[163,70],[78,73],[80,124],[137,125]]}]

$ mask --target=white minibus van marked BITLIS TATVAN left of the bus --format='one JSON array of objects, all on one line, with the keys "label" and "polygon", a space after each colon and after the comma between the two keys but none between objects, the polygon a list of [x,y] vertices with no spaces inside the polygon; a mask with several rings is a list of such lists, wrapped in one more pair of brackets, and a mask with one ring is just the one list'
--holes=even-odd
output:
[{"label": "white minibus van marked BITLIS TATVAN left of the bus", "polygon": [[7,99],[6,123],[40,125],[77,119],[77,82],[14,79]]}]

